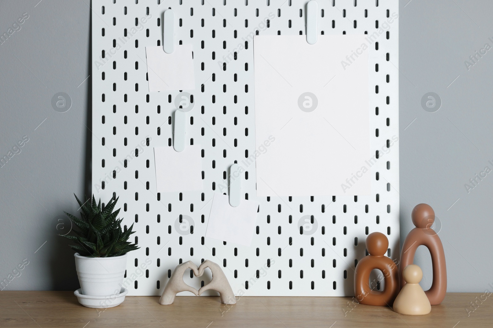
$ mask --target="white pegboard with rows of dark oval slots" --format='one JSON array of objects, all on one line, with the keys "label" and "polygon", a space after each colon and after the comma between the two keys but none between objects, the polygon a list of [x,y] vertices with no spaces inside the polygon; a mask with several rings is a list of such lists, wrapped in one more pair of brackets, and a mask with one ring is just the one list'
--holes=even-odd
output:
[{"label": "white pegboard with rows of dark oval slots", "polygon": [[[365,256],[366,235],[375,231],[387,235],[387,255],[399,259],[393,0],[318,0],[318,33],[368,34],[371,196],[257,198],[252,165],[242,181],[243,197],[260,203],[251,246],[204,237],[212,195],[227,186],[228,167],[255,150],[250,35],[305,34],[306,2],[92,1],[92,185],[102,202],[120,197],[120,217],[127,227],[134,223],[132,238],[141,248],[129,253],[128,295],[160,295],[180,262],[198,266],[209,259],[222,267],[237,296],[352,296],[356,262]],[[179,92],[148,92],[145,46],[162,45],[162,15],[170,7],[176,43],[193,45],[196,89],[189,91],[194,108],[186,138],[203,149],[202,192],[156,193],[153,147],[172,147]],[[305,215],[317,226],[311,235],[300,234]],[[193,220],[193,233],[176,228],[180,216]],[[184,280],[198,289],[210,276],[185,273]]]}]

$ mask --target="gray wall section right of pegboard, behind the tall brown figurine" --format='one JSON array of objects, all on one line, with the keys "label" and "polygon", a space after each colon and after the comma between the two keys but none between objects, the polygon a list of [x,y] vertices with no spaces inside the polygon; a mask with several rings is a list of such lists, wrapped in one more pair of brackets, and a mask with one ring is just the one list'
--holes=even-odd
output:
[{"label": "gray wall section right of pegboard, behind the tall brown figurine", "polygon": [[[493,2],[408,1],[400,1],[399,17],[401,245],[414,228],[413,207],[431,205],[441,222],[448,291],[492,291],[493,173],[469,193],[464,184],[485,166],[493,170],[493,49],[469,70],[464,61],[485,43],[493,47]],[[430,91],[442,100],[434,113],[421,106]],[[422,248],[415,263],[427,288],[431,259]]]}]

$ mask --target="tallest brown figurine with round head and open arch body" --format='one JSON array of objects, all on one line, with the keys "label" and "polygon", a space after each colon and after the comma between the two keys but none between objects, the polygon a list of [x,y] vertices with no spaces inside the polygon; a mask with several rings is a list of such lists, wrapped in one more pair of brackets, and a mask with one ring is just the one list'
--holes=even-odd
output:
[{"label": "tallest brown figurine with round head and open arch body", "polygon": [[413,264],[416,249],[424,245],[430,251],[433,268],[433,283],[430,289],[424,293],[431,305],[440,304],[447,292],[447,267],[445,266],[445,253],[443,251],[442,241],[435,231],[431,229],[431,225],[435,222],[435,212],[428,204],[418,204],[413,209],[411,218],[416,228],[411,230],[402,245],[399,264],[401,287],[406,284],[402,277],[404,268]]}]

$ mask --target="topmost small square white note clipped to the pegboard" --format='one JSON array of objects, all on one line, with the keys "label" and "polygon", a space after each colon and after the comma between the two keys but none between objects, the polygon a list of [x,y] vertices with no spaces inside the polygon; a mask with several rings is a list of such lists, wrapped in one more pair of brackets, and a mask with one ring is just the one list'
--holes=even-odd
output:
[{"label": "topmost small square white note clipped to the pegboard", "polygon": [[171,54],[162,46],[145,47],[149,92],[195,89],[192,45],[176,45]]}]

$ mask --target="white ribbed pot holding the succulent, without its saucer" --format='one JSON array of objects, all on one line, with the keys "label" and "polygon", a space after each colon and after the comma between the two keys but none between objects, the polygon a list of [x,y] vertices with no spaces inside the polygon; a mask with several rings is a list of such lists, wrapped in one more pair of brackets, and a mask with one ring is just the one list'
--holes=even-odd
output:
[{"label": "white ribbed pot holding the succulent, without its saucer", "polygon": [[127,254],[114,257],[75,256],[75,269],[83,295],[109,296],[120,293],[127,268]]}]

